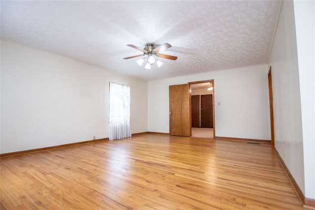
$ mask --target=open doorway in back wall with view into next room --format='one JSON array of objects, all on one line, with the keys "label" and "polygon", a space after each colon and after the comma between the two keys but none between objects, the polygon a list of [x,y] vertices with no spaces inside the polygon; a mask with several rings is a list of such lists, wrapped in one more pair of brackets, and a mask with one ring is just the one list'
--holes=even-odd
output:
[{"label": "open doorway in back wall with view into next room", "polygon": [[189,82],[191,137],[215,137],[214,81]]}]

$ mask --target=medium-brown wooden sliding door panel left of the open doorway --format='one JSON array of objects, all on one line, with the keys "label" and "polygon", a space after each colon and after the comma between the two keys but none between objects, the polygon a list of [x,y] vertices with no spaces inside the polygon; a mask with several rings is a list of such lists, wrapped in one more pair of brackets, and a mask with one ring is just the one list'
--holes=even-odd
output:
[{"label": "medium-brown wooden sliding door panel left of the open doorway", "polygon": [[189,84],[169,86],[169,134],[190,137]]}]

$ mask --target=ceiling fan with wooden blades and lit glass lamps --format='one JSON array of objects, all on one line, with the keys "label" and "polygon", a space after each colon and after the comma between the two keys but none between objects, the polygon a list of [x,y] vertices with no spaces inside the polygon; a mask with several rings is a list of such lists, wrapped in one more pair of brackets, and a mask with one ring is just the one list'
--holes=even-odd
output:
[{"label": "ceiling fan with wooden blades and lit glass lamps", "polygon": [[126,57],[124,59],[142,57],[141,59],[139,59],[137,61],[137,63],[139,66],[141,66],[142,63],[144,62],[144,60],[147,60],[147,64],[145,66],[146,69],[151,69],[151,65],[153,65],[155,62],[157,63],[158,67],[160,67],[163,63],[160,60],[158,60],[158,58],[165,58],[165,59],[170,59],[173,61],[175,61],[177,59],[176,56],[160,54],[160,52],[162,52],[162,51],[164,51],[164,50],[166,50],[172,46],[169,43],[164,43],[158,47],[154,47],[154,44],[148,43],[148,44],[146,44],[146,47],[143,49],[140,47],[137,47],[133,44],[127,44],[127,46],[132,47],[132,48],[137,49],[137,50],[140,50],[143,53],[140,55],[134,55],[134,56]]}]

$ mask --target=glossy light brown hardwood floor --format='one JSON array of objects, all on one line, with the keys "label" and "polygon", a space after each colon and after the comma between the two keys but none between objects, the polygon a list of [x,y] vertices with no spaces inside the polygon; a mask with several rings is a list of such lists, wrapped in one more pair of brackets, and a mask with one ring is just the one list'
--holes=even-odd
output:
[{"label": "glossy light brown hardwood floor", "polygon": [[141,134],[0,164],[1,210],[303,209],[267,143]]}]

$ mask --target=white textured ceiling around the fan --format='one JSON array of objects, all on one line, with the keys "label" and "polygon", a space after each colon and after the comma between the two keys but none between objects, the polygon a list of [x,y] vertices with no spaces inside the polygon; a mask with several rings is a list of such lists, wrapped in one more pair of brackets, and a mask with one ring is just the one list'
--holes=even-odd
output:
[{"label": "white textured ceiling around the fan", "polygon": [[[5,1],[1,37],[145,80],[267,62],[282,1]],[[137,65],[168,42],[176,61]]]}]

